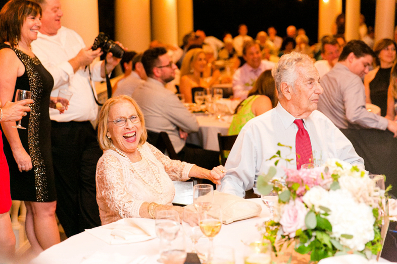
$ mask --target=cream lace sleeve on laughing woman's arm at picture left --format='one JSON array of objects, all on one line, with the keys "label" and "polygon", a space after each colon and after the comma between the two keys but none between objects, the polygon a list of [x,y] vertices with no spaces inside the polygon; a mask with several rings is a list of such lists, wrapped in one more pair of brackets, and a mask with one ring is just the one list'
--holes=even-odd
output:
[{"label": "cream lace sleeve on laughing woman's arm at picture left", "polygon": [[122,218],[140,217],[139,208],[144,201],[131,196],[124,180],[123,163],[113,155],[104,155],[96,167],[97,197],[109,207],[111,211]]}]

